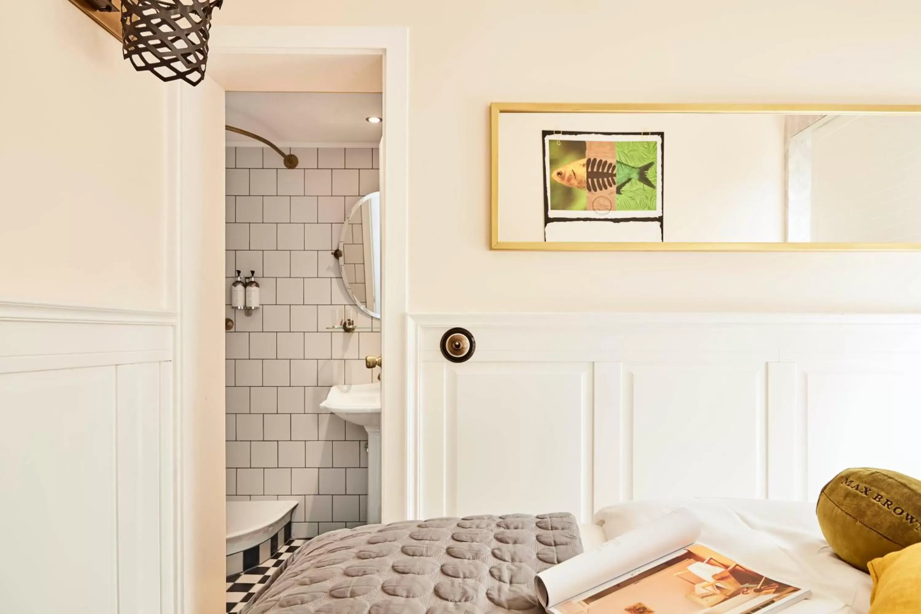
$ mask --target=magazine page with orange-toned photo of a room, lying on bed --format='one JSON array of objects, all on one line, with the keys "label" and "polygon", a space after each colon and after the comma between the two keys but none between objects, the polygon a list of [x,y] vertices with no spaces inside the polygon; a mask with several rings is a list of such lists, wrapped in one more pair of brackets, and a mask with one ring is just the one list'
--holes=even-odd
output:
[{"label": "magazine page with orange-toned photo of a room, lying on bed", "polygon": [[767,614],[787,608],[809,591],[743,567],[694,544],[614,579],[601,589],[549,608],[553,614]]}]

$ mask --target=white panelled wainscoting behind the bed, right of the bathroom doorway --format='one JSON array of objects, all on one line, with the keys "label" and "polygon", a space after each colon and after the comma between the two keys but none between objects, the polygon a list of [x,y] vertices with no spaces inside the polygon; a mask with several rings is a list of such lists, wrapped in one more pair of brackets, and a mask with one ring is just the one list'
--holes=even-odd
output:
[{"label": "white panelled wainscoting behind the bed, right of the bathroom doorway", "polygon": [[[445,330],[476,338],[449,363]],[[811,501],[847,467],[921,476],[921,318],[414,316],[417,516],[685,496]],[[411,428],[413,428],[411,426]]]}]

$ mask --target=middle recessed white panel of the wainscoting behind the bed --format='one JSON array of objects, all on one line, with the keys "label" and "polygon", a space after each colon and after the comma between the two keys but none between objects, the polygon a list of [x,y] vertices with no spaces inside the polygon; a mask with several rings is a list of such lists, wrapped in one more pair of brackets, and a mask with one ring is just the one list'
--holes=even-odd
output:
[{"label": "middle recessed white panel of the wainscoting behind the bed", "polygon": [[764,365],[635,365],[633,492],[764,498]]}]

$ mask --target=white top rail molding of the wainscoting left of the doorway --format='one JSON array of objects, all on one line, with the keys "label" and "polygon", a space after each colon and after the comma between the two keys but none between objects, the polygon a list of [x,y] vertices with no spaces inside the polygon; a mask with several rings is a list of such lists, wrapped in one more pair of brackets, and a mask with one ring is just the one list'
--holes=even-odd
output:
[{"label": "white top rail molding of the wainscoting left of the doorway", "polygon": [[171,311],[142,311],[0,301],[0,320],[173,326],[176,324],[178,316]]}]

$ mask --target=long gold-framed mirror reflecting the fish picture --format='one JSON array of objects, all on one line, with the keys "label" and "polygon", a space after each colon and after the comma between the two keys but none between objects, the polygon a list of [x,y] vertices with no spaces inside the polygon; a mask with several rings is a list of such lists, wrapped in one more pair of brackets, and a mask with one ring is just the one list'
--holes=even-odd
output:
[{"label": "long gold-framed mirror reflecting the fish picture", "polygon": [[[495,102],[490,122],[491,249],[921,249],[921,208],[852,206],[904,184],[919,105]],[[857,186],[857,150],[892,177]]]}]

